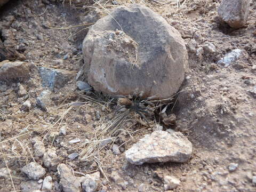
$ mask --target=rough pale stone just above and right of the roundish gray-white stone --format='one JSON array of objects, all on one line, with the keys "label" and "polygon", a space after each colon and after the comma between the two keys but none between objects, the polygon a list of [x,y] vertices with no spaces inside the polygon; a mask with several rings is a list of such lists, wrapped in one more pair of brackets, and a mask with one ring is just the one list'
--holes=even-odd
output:
[{"label": "rough pale stone just above and right of the roundish gray-white stone", "polygon": [[56,150],[48,149],[43,156],[44,166],[48,167],[50,170],[57,170],[57,165],[62,162],[62,157],[58,157]]}]

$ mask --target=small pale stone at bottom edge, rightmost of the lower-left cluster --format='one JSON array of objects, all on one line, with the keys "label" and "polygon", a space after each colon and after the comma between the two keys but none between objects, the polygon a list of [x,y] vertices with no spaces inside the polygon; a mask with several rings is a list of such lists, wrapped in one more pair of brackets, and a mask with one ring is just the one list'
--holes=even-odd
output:
[{"label": "small pale stone at bottom edge, rightmost of the lower-left cluster", "polygon": [[82,188],[85,192],[97,191],[100,184],[100,172],[95,172],[93,174],[86,174],[85,179],[82,182]]}]

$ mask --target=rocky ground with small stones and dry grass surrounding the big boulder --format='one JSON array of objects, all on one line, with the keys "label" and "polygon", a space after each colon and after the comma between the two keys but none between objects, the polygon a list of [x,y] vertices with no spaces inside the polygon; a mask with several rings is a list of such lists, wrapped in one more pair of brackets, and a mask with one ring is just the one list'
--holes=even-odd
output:
[{"label": "rocky ground with small stones and dry grass surrounding the big boulder", "polygon": [[[130,2],[1,7],[0,191],[256,190],[256,1],[239,29],[219,24],[220,1],[137,3],[180,32],[189,57],[173,105],[156,110],[150,127],[135,114],[113,124],[116,100],[77,88],[91,89],[76,78],[88,23]],[[174,162],[133,155],[134,143],[154,150],[147,141],[173,137],[187,149],[173,151]]]}]

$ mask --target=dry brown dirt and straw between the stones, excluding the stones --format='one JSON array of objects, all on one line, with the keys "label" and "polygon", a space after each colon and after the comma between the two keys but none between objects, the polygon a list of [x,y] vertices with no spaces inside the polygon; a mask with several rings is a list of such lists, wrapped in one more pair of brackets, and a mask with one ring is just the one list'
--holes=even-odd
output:
[{"label": "dry brown dirt and straw between the stones, excluding the stones", "polygon": [[[130,4],[123,0],[117,1],[118,5],[110,1],[94,5],[86,1],[76,6],[69,1],[61,2],[11,1],[0,12],[0,34],[5,46],[23,54],[22,59],[31,65],[29,81],[21,82],[28,92],[27,97],[18,96],[18,82],[0,82],[0,168],[7,164],[12,170],[15,190],[19,191],[20,183],[27,180],[20,171],[23,166],[33,161],[42,164],[41,158],[34,157],[31,143],[38,137],[46,148],[55,148],[62,163],[72,168],[77,176],[81,176],[79,172],[100,170],[102,186],[107,191],[164,191],[164,175],[174,175],[181,180],[173,191],[256,191],[251,180],[252,175],[256,175],[255,0],[251,2],[246,26],[237,30],[218,25],[218,0],[188,0],[179,9],[177,5],[161,1],[137,2],[162,15],[180,31],[187,43],[189,71],[175,106],[168,113],[175,113],[177,117],[176,125],[171,128],[187,135],[194,147],[186,163],[141,166],[127,164],[124,153],[114,155],[113,142],[81,160],[88,151],[88,144],[83,143],[97,139],[98,127],[107,124],[113,116],[115,104],[108,102],[109,98],[93,95],[97,102],[82,98],[76,91],[75,79],[70,79],[64,87],[54,90],[47,111],[36,105],[36,98],[45,89],[38,67],[76,73],[82,68],[81,45],[88,26],[70,26],[91,22],[86,14],[95,7],[106,14],[115,6]],[[207,43],[213,43],[215,51],[203,49],[203,54],[196,54],[195,50]],[[237,48],[246,50],[246,54],[233,65],[216,64],[223,55]],[[29,111],[23,111],[22,103],[27,99],[32,106]],[[85,103],[69,105],[74,101]],[[131,119],[139,118],[130,116],[115,141],[121,151],[152,132],[145,124]],[[67,135],[49,141],[49,135],[59,132],[60,127],[66,127]],[[168,128],[164,126],[164,130]],[[75,138],[81,142],[69,143]],[[70,160],[67,156],[71,153],[80,154],[79,158]],[[230,163],[238,164],[234,172],[228,170]],[[118,173],[120,182],[111,179],[113,172]],[[54,182],[59,181],[56,171],[48,170],[46,175],[51,175]],[[0,178],[0,191],[13,191],[14,187],[10,175]]]}]

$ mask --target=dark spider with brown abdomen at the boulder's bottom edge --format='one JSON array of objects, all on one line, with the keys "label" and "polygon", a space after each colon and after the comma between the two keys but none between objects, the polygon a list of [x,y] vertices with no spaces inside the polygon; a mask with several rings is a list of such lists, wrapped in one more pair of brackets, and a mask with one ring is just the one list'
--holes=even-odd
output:
[{"label": "dark spider with brown abdomen at the boulder's bottom edge", "polygon": [[[150,113],[148,111],[153,111],[153,110],[148,107],[145,107],[144,104],[154,105],[153,103],[151,103],[147,100],[140,100],[139,98],[136,98],[136,97],[133,97],[132,100],[130,100],[126,97],[118,98],[117,105],[119,105],[120,107],[116,109],[115,114],[118,111],[120,111],[121,109],[126,108],[127,110],[129,110],[129,113],[131,111],[134,111],[135,113],[139,114],[142,119],[145,119],[148,126],[150,126],[148,119],[146,118],[146,116],[144,114],[150,116]],[[115,116],[115,114],[114,114],[114,116]]]}]

